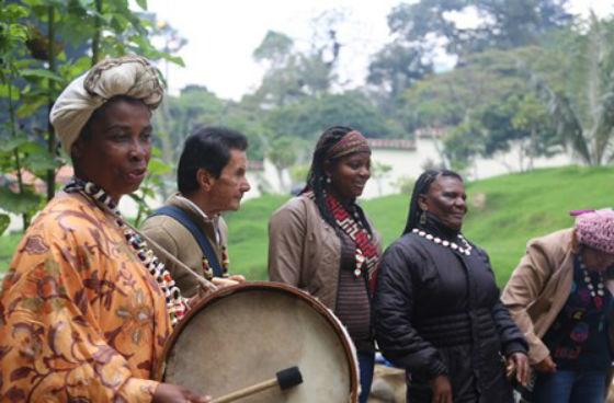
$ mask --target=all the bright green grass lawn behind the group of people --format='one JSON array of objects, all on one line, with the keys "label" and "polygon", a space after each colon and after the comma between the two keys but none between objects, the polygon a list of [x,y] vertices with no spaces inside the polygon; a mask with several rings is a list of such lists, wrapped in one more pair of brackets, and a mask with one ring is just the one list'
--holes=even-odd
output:
[{"label": "all the bright green grass lawn behind the group of people", "polygon": [[[568,211],[614,205],[613,168],[536,170],[467,184],[469,214],[464,232],[490,254],[500,285],[505,284],[526,241],[570,227]],[[263,196],[247,200],[228,214],[230,267],[249,279],[266,278],[268,222],[288,197]],[[409,195],[393,195],[362,203],[384,238],[397,239],[405,227]],[[0,237],[0,270],[9,265],[19,234]]]}]

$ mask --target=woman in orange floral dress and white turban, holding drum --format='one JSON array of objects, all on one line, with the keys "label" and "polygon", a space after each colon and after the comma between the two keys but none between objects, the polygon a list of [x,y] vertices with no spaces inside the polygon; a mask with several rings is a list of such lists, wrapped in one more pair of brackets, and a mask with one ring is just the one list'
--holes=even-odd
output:
[{"label": "woman in orange floral dress and white turban, holding drum", "polygon": [[[75,177],[25,232],[0,295],[0,396],[27,402],[209,402],[151,380],[185,301],[116,209],[138,188],[162,100],[147,59],[107,59],[52,113]],[[4,400],[2,399],[2,400]]]}]

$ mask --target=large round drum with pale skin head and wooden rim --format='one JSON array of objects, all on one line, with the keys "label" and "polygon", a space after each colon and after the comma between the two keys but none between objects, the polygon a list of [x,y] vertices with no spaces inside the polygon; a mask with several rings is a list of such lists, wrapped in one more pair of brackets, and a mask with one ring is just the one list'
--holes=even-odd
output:
[{"label": "large round drum with pale skin head and wooden rim", "polygon": [[354,403],[359,375],[343,325],[319,301],[277,283],[220,289],[177,326],[157,379],[214,399],[297,366],[303,383],[269,389],[240,403]]}]

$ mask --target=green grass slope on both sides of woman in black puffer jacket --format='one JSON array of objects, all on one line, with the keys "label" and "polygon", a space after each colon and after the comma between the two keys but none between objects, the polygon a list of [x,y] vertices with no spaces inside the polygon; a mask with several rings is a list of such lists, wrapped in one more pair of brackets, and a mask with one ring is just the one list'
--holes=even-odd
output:
[{"label": "green grass slope on both sides of woman in black puffer jacket", "polygon": [[[490,254],[503,285],[527,240],[572,226],[569,210],[614,205],[614,169],[537,170],[474,182],[467,193],[464,233]],[[479,199],[484,202],[477,206]],[[364,204],[386,244],[405,227],[408,203],[408,196],[396,195]]]}]

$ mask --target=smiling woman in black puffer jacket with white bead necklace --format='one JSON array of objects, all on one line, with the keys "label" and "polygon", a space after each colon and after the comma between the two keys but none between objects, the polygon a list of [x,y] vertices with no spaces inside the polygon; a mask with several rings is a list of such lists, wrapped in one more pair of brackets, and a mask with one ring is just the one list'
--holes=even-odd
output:
[{"label": "smiling woman in black puffer jacket with white bead necklace", "polygon": [[408,402],[512,402],[501,357],[508,376],[526,381],[526,342],[499,301],[488,255],[461,233],[465,200],[457,173],[422,173],[405,231],[382,257],[376,339],[406,369]]}]

